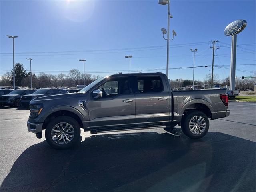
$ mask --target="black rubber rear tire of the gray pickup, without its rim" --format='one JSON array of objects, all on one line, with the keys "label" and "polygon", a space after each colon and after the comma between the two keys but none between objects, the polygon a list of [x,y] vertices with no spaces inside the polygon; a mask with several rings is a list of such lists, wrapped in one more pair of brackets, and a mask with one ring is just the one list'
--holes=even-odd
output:
[{"label": "black rubber rear tire of the gray pickup, without its rim", "polygon": [[[202,123],[202,124],[199,124],[196,121],[195,122],[195,126],[193,126],[192,124],[190,125],[190,120],[191,121],[195,121],[195,118],[194,117],[201,117],[201,118],[196,118],[196,119],[199,119],[200,122],[205,122],[205,123]],[[205,124],[205,127],[204,126],[201,126]],[[190,130],[190,126],[192,127],[192,129]],[[182,131],[183,133],[192,138],[192,139],[200,139],[202,138],[203,136],[206,135],[206,133],[208,132],[209,130],[209,119],[208,117],[206,116],[206,114],[204,114],[203,112],[200,112],[200,111],[191,111],[191,112],[188,112],[183,118],[182,118],[182,122],[181,122],[181,128],[182,128]],[[204,129],[203,129],[204,128]],[[202,130],[203,129],[203,130]],[[202,132],[200,132],[199,130],[201,130]],[[194,133],[193,133],[194,131]]]}]

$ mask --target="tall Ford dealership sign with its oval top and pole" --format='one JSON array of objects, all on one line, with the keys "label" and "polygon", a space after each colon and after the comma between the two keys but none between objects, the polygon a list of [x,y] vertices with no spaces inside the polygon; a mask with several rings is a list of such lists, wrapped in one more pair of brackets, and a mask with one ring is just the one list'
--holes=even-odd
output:
[{"label": "tall Ford dealership sign with its oval top and pole", "polygon": [[230,61],[230,85],[229,89],[235,89],[235,80],[236,80],[236,35],[240,33],[246,27],[246,20],[239,19],[228,26],[224,30],[226,36],[232,36],[231,42],[231,61]]}]

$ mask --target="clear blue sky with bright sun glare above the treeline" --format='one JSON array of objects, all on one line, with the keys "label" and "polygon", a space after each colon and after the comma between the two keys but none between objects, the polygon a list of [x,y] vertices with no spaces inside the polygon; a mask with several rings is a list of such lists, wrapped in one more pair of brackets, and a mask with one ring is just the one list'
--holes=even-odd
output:
[{"label": "clear blue sky with bright sun glare above the treeline", "polygon": [[[228,24],[247,21],[237,35],[236,76],[253,76],[256,71],[256,1],[171,0],[170,79],[193,78],[193,53],[197,48],[195,80],[211,73],[213,40],[218,40],[214,73],[230,75],[231,37],[224,35]],[[166,73],[166,44],[161,28],[167,28],[167,5],[158,0],[0,0],[0,76],[12,70],[12,40],[15,63],[32,72],[68,74],[71,69],[106,76],[129,72]],[[172,33],[170,33],[171,35]],[[176,68],[176,69],[175,69]],[[178,68],[178,69],[177,69]]]}]

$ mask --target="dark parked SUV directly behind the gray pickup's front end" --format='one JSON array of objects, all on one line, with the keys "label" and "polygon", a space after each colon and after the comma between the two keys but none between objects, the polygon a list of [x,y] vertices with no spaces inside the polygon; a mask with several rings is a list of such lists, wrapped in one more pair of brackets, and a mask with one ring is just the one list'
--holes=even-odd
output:
[{"label": "dark parked SUV directly behind the gray pickup's front end", "polygon": [[68,92],[64,89],[56,89],[56,88],[38,89],[33,94],[22,96],[21,106],[29,106],[30,101],[34,98],[49,96],[49,95],[64,94],[64,93],[68,93]]}]

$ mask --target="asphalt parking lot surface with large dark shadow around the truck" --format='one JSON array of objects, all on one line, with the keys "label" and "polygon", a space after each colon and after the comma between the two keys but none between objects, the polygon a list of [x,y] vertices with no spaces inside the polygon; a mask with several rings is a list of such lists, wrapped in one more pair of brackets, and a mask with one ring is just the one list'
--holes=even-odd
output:
[{"label": "asphalt parking lot surface with large dark shadow around the truck", "polygon": [[0,191],[255,191],[256,103],[230,102],[191,140],[180,127],[90,134],[54,150],[27,131],[28,109],[0,109]]}]

